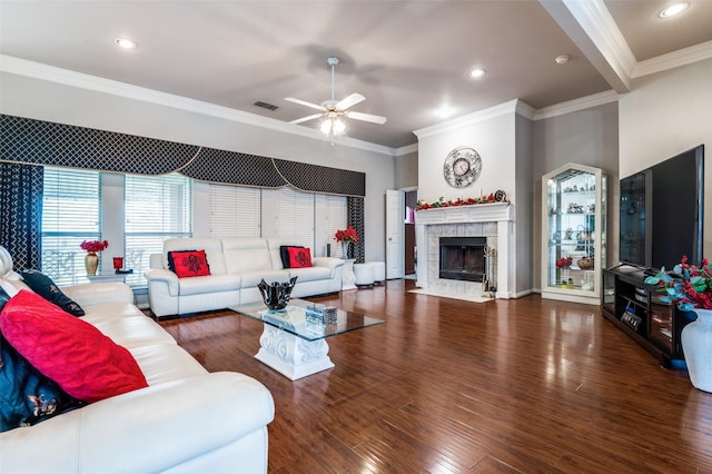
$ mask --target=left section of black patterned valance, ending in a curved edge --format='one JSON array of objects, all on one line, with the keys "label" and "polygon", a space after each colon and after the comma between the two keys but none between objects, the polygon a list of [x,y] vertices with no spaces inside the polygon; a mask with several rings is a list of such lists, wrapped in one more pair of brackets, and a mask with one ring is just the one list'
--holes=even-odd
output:
[{"label": "left section of black patterned valance, ending in a curved edge", "polygon": [[0,159],[136,175],[165,175],[199,147],[93,128],[0,115]]}]

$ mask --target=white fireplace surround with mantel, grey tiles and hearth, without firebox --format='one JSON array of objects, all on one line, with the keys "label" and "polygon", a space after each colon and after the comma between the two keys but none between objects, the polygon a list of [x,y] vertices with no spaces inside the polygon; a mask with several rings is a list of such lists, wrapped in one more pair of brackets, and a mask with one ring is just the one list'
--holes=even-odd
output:
[{"label": "white fireplace surround with mantel, grey tiles and hearth, without firebox", "polygon": [[495,254],[496,297],[513,297],[513,224],[514,206],[508,203],[418,210],[416,213],[416,241],[418,243],[416,285],[437,292],[482,295],[481,283],[439,278],[439,238],[486,237],[487,247],[494,249]]}]

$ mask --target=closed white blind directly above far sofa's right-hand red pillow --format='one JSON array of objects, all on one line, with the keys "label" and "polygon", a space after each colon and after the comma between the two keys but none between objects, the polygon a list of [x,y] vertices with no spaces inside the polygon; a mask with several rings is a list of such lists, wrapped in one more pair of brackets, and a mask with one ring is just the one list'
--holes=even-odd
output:
[{"label": "closed white blind directly above far sofa's right-hand red pillow", "polygon": [[314,195],[281,188],[276,206],[277,237],[294,237],[295,245],[314,251]]}]

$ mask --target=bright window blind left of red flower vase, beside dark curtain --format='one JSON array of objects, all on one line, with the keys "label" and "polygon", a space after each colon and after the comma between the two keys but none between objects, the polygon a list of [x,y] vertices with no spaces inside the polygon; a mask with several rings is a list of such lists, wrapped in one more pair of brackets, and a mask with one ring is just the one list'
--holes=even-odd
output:
[{"label": "bright window blind left of red flower vase, beside dark curtain", "polygon": [[44,168],[42,271],[58,285],[87,275],[83,240],[101,239],[101,181],[97,171]]}]

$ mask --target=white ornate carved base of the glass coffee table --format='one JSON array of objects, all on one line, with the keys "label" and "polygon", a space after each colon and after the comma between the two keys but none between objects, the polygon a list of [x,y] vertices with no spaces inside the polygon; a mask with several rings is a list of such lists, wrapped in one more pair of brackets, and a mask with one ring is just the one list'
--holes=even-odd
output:
[{"label": "white ornate carved base of the glass coffee table", "polygon": [[334,367],[326,339],[307,340],[269,324],[264,326],[255,358],[290,381]]}]

